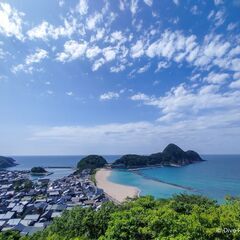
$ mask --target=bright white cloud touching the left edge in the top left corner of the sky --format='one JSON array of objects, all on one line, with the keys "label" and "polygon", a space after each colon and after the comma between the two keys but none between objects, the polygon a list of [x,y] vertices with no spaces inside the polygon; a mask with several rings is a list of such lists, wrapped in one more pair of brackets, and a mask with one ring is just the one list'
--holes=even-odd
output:
[{"label": "bright white cloud touching the left edge in the top left corner of the sky", "polygon": [[0,3],[0,33],[7,37],[15,36],[17,39],[23,40],[23,16],[24,13],[18,12],[8,3]]}]

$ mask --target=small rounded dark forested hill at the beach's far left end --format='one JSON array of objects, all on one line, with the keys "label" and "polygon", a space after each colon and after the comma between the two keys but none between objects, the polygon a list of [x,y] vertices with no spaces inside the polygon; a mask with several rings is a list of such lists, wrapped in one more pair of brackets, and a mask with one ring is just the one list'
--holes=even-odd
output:
[{"label": "small rounded dark forested hill at the beach's far left end", "polygon": [[102,156],[98,155],[89,155],[87,157],[82,158],[78,164],[77,168],[79,170],[84,170],[84,169],[96,169],[96,168],[101,168],[105,164],[107,164],[106,159],[104,159]]}]

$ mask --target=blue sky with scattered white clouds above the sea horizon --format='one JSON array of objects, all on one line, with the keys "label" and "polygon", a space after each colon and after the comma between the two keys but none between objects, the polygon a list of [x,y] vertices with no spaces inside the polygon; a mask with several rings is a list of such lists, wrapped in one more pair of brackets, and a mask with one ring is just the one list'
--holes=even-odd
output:
[{"label": "blue sky with scattered white clouds above the sea horizon", "polygon": [[240,153],[239,0],[0,2],[0,153]]}]

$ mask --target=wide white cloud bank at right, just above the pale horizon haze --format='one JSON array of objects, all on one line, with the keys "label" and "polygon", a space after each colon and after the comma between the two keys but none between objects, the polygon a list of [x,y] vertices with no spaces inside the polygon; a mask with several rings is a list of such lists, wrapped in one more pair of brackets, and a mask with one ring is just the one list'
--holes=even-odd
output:
[{"label": "wide white cloud bank at right, just above the pale horizon haze", "polygon": [[206,85],[194,90],[191,87],[180,84],[177,87],[173,87],[162,97],[139,93],[133,95],[131,99],[160,109],[161,117],[159,120],[167,119],[168,121],[178,118],[187,119],[189,116],[208,116],[214,114],[215,111],[226,114],[228,111],[237,110],[240,106],[240,103],[237,102],[240,92],[229,91],[221,93],[218,89],[217,86]]}]

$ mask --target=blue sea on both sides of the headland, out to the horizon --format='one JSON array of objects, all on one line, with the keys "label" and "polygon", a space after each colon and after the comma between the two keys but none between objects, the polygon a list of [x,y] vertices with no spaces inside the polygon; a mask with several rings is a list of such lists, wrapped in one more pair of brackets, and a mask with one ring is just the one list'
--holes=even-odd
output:
[{"label": "blue sea on both sides of the headland, out to the horizon", "polygon": [[[52,180],[71,174],[84,156],[13,156],[18,165],[11,170],[29,170],[34,166],[49,168]],[[119,155],[106,155],[111,163]],[[169,198],[178,193],[201,194],[218,202],[226,196],[240,197],[240,155],[202,155],[206,161],[183,167],[153,167],[138,170],[113,170],[109,180],[130,185],[140,195]],[[63,168],[71,167],[71,168]]]}]

